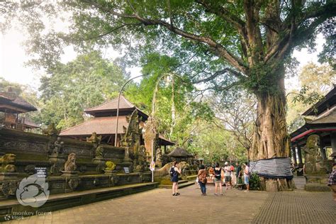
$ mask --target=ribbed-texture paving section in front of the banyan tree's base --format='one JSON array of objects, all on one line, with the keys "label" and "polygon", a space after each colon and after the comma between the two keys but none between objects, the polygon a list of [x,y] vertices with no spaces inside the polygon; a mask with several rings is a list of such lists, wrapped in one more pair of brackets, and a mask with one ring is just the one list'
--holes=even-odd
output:
[{"label": "ribbed-texture paving section in front of the banyan tree's base", "polygon": [[336,223],[331,192],[282,191],[269,194],[252,223]]}]

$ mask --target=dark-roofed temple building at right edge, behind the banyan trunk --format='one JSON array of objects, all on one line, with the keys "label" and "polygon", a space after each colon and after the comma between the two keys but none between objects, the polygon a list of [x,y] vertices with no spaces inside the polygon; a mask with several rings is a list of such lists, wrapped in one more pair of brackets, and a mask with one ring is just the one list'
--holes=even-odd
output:
[{"label": "dark-roofed temple building at right edge, behind the banyan trunk", "polygon": [[[320,153],[324,160],[332,159],[336,156],[336,85],[325,95],[325,97],[311,106],[303,116],[306,123],[298,130],[291,133],[291,150],[293,162],[299,168],[303,167],[302,148],[306,145],[306,140],[310,135],[320,137]],[[332,154],[327,155],[326,148],[332,148]],[[296,155],[298,158],[296,158]]]}]

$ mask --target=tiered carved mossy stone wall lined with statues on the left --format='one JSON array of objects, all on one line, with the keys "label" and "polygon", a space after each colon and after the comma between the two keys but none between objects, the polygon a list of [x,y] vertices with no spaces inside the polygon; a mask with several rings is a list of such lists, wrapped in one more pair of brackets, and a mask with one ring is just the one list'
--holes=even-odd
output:
[{"label": "tiered carved mossy stone wall lined with statues on the left", "polygon": [[[61,138],[62,162],[55,163],[50,160],[50,146],[55,146],[57,136],[38,135],[25,133],[21,130],[3,128],[0,130],[0,157],[5,154],[16,155],[14,166],[16,170],[4,171],[4,162],[0,161],[0,200],[13,198],[18,184],[23,178],[35,173],[35,167],[47,169],[47,179],[51,194],[67,193],[71,191],[84,191],[110,186],[136,184],[151,180],[150,172],[133,173],[132,162],[124,161],[125,148],[111,145],[103,147],[103,157],[96,157],[96,148],[92,143],[69,138]],[[54,147],[55,149],[55,147]],[[64,172],[64,162],[70,153],[76,154],[76,169]],[[58,155],[57,155],[58,156]],[[57,160],[58,161],[58,160]],[[112,161],[116,168],[109,172],[105,162]],[[55,168],[57,164],[57,168]],[[124,167],[128,167],[130,173],[125,173]],[[52,172],[57,170],[57,172]],[[64,173],[67,173],[65,175]]]}]

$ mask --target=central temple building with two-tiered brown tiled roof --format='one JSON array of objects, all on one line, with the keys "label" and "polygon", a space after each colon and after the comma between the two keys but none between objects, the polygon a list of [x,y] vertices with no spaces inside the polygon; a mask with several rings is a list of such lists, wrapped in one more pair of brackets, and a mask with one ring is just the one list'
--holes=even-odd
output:
[{"label": "central temple building with two-tiered brown tiled roof", "polygon": [[[60,135],[67,136],[69,138],[74,138],[77,140],[86,140],[90,137],[92,133],[102,136],[102,142],[108,145],[114,145],[116,138],[116,114],[118,107],[118,98],[111,101],[102,103],[99,106],[93,108],[88,108],[84,112],[93,116],[93,118],[79,125],[75,125],[72,128],[63,130]],[[139,126],[144,127],[145,121],[148,119],[148,115],[142,112],[138,107],[130,103],[124,96],[121,96],[119,104],[119,116],[118,116],[118,135],[117,135],[117,145],[121,146],[121,139],[125,135],[125,130],[128,128],[127,117],[130,116],[133,111],[138,111],[138,116],[140,119]],[[143,138],[141,138],[140,145],[145,145]],[[165,139],[162,135],[159,135],[159,140],[157,142],[158,147],[164,147],[164,152],[167,150],[167,145],[174,145]]]}]

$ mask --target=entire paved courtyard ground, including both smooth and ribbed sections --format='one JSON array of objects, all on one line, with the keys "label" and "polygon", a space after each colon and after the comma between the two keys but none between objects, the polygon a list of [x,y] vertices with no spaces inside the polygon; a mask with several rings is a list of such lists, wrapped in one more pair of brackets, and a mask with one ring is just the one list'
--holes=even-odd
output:
[{"label": "entire paved courtyard ground, including both smooth and ribbed sections", "polygon": [[181,196],[155,189],[9,223],[335,223],[331,193],[278,193],[229,189],[208,196],[189,186]]}]

